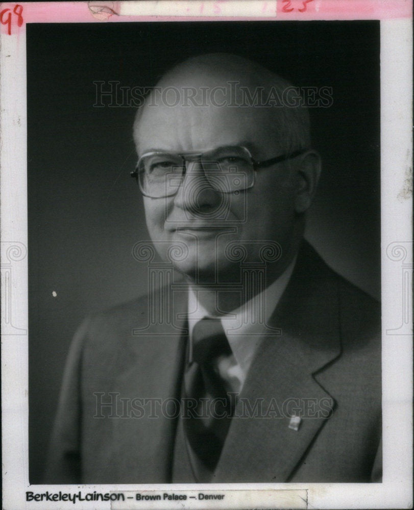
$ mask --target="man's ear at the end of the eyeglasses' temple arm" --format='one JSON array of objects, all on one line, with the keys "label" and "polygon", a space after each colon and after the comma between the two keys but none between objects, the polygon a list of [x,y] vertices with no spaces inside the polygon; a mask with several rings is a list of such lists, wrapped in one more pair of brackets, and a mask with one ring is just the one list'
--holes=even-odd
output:
[{"label": "man's ear at the end of the eyeglasses' temple arm", "polygon": [[321,175],[321,157],[315,150],[308,150],[300,156],[297,165],[295,210],[299,214],[312,203]]}]

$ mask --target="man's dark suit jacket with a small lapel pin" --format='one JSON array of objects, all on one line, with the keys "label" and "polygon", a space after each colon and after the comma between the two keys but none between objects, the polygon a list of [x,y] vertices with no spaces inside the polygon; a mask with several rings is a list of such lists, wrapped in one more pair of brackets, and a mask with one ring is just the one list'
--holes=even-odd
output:
[{"label": "man's dark suit jacket with a small lapel pin", "polygon": [[[139,417],[142,400],[131,415],[120,399],[180,397],[187,294],[172,295],[173,322],[149,323],[153,301],[144,297],[81,326],[67,360],[46,483],[171,482],[177,419],[159,410],[152,418],[148,408]],[[240,394],[253,413],[255,402],[270,412],[233,418],[213,481],[380,481],[378,303],[304,243],[270,326],[282,334],[270,330]],[[111,398],[116,409],[97,409]],[[282,416],[293,412],[302,417],[297,431]]]}]

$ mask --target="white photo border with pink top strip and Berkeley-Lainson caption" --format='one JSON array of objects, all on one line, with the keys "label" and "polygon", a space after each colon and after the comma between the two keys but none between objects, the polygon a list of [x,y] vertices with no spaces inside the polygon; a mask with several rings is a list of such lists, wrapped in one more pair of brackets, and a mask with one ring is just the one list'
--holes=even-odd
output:
[{"label": "white photo border with pink top strip and Berkeley-Lainson caption", "polygon": [[[1,28],[1,226],[2,226],[2,407],[3,407],[3,507],[7,510],[39,507],[27,502],[26,491],[43,493],[110,491],[198,491],[226,490],[228,484],[88,484],[85,486],[47,486],[29,484],[28,471],[28,258],[27,258],[27,113],[26,113],[26,23],[29,22],[111,22],[187,20],[188,2],[114,2],[114,3],[21,3],[23,23],[18,26],[14,13]],[[167,5],[169,4],[169,5]],[[197,3],[191,3],[196,9]],[[208,3],[205,3],[205,6]],[[264,7],[266,4],[266,7]],[[271,7],[269,7],[269,4]],[[293,2],[294,4],[294,2]],[[290,507],[286,495],[277,491],[306,491],[306,504],[313,508],[396,508],[412,504],[412,16],[411,2],[315,2],[319,11],[282,12],[285,2],[249,2],[252,12],[230,16],[238,2],[214,3],[208,16],[191,14],[203,20],[308,20],[381,19],[381,294],[382,294],[382,388],[383,388],[383,482],[365,483],[237,483],[231,490],[273,491],[275,504],[260,499],[255,507]],[[352,9],[350,4],[352,4]],[[371,10],[363,10],[369,4]],[[13,13],[15,3],[2,4],[0,10]],[[101,9],[102,8],[102,9]],[[140,15],[124,14],[139,10]],[[161,9],[161,14],[158,14]],[[166,9],[162,11],[162,9]],[[241,7],[240,7],[241,9]],[[272,14],[268,9],[271,9]],[[351,13],[353,10],[353,13]],[[113,11],[113,12],[111,12]],[[368,11],[368,12],[367,12]],[[8,12],[4,15],[6,18]],[[119,13],[114,14],[114,13]],[[171,14],[168,14],[171,12]],[[167,13],[167,14],[166,14]],[[262,15],[264,13],[265,15]],[[11,14],[12,15],[12,14]],[[287,17],[289,16],[290,17]],[[155,17],[157,16],[157,17]],[[349,16],[354,16],[349,17]],[[411,172],[411,173],[410,173]],[[408,274],[408,277],[407,277]],[[410,312],[411,309],[411,312]],[[302,494],[302,492],[301,492]],[[241,496],[241,495],[240,495]],[[278,499],[279,498],[279,499]],[[235,499],[240,508],[243,500]],[[238,503],[239,502],[239,503]],[[211,508],[227,506],[208,506]],[[55,508],[43,502],[45,508]],[[182,502],[180,502],[182,505]],[[281,506],[288,505],[288,506]],[[59,508],[73,508],[60,502]],[[76,508],[110,508],[78,502]],[[118,506],[119,507],[119,506]],[[127,508],[128,506],[123,506]],[[147,506],[140,506],[146,508]],[[154,507],[148,505],[148,508]],[[170,505],[169,507],[173,507]],[[183,507],[183,506],[181,506]],[[197,506],[186,505],[186,508]],[[120,508],[120,507],[119,507]]]}]

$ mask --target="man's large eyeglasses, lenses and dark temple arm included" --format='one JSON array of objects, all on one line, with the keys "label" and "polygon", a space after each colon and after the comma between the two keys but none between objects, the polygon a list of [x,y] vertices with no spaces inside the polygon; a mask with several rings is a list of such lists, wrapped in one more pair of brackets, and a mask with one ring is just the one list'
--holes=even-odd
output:
[{"label": "man's large eyeglasses, lenses and dark temple arm included", "polygon": [[246,147],[219,147],[207,152],[146,152],[131,172],[141,193],[150,198],[174,196],[183,183],[187,170],[186,162],[200,163],[202,174],[209,186],[220,193],[234,193],[254,186],[255,172],[282,161],[296,158],[307,149],[300,149],[287,155],[265,161],[255,161]]}]

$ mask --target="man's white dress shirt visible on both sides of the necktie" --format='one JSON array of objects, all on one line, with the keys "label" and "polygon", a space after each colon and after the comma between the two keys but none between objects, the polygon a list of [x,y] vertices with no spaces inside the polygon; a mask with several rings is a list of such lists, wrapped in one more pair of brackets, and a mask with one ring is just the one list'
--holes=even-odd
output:
[{"label": "man's white dress shirt visible on both sides of the necktie", "polygon": [[[282,275],[260,294],[241,305],[240,308],[220,317],[232,354],[220,356],[216,360],[215,369],[224,380],[228,392],[240,393],[257,348],[265,338],[263,332],[266,324],[286,289],[295,262],[296,258]],[[194,291],[191,287],[188,292],[190,359],[194,325],[203,317],[211,317],[197,297],[197,293],[200,295],[202,292],[202,290]]]}]

